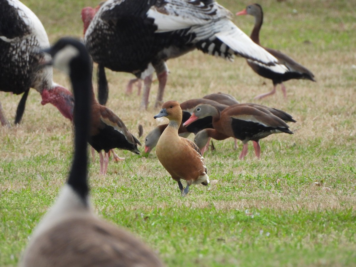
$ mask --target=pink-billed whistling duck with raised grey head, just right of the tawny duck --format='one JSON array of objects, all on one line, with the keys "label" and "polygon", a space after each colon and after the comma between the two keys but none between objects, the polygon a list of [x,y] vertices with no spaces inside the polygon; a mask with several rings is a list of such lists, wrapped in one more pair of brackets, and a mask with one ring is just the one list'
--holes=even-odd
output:
[{"label": "pink-billed whistling duck with raised grey head, just right of the tawny duck", "polygon": [[[277,114],[281,112],[285,113],[281,110],[276,110]],[[293,133],[288,129],[289,126],[286,122],[274,115],[268,107],[263,108],[263,105],[256,104],[236,104],[224,109],[222,112],[209,104],[201,104],[195,107],[192,116],[184,125],[189,125],[191,122],[206,116],[213,116],[214,127],[213,130],[205,131],[206,135],[210,134],[210,137],[213,138],[216,135],[218,140],[223,140],[227,138],[226,136],[230,136],[242,141],[244,146],[239,157],[240,159],[247,155],[248,141],[253,142],[256,156],[260,157],[260,139],[272,133]],[[286,114],[284,117],[291,118],[289,114]],[[294,120],[292,119],[292,121]],[[203,134],[201,136],[202,138],[204,137]]]}]

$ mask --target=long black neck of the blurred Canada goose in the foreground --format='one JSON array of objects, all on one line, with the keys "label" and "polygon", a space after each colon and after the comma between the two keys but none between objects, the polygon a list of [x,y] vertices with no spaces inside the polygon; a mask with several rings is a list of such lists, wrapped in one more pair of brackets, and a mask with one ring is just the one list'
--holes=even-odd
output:
[{"label": "long black neck of the blurred Canada goose in the foreground", "polygon": [[[88,58],[88,60],[90,60]],[[90,61],[89,61],[90,62]],[[72,63],[73,64],[73,63]],[[75,66],[80,68],[75,68]],[[88,62],[73,64],[70,73],[74,94],[74,160],[70,170],[68,184],[87,205],[89,192],[87,183],[87,142],[91,116],[91,65]]]}]

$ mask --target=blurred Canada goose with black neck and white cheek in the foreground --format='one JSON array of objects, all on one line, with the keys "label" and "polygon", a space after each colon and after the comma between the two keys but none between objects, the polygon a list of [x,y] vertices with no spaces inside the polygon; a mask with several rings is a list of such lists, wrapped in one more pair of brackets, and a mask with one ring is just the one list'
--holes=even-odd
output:
[{"label": "blurred Canada goose with black neck and white cheek in the foreground", "polygon": [[20,266],[163,266],[142,241],[98,218],[91,208],[87,142],[92,63],[85,46],[72,38],[62,38],[46,52],[55,66],[68,72],[72,82],[74,160],[62,192],[33,231]]}]

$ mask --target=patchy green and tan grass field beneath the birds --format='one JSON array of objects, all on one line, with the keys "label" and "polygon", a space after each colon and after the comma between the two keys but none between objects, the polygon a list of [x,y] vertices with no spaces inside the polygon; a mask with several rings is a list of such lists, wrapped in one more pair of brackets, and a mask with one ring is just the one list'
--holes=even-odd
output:
[{"label": "patchy green and tan grass field beneath the birds", "polygon": [[[50,42],[64,35],[82,37],[80,10],[94,0],[24,1],[45,26]],[[248,2],[219,1],[232,13]],[[180,102],[213,92],[234,95],[285,110],[297,123],[294,135],[261,140],[262,155],[250,145],[245,160],[233,141],[214,141],[205,153],[211,184],[194,186],[180,197],[177,183],[155,152],[109,163],[99,175],[98,156],[90,164],[93,207],[99,216],[125,227],[155,250],[167,266],[356,266],[355,157],[355,12],[352,1],[262,3],[261,43],[280,49],[312,70],[316,83],[285,83],[288,99],[277,89],[261,101],[257,94],[272,82],[252,72],[244,59],[234,63],[194,51],[167,62],[171,74],[164,99]],[[297,12],[293,11],[296,10]],[[233,17],[246,33],[253,18]],[[150,107],[124,90],[132,74],[107,71],[108,107],[137,135],[153,119],[157,83]],[[55,72],[55,81],[70,87]],[[0,93],[11,121],[19,96]],[[72,160],[72,126],[53,106],[40,104],[31,91],[20,126],[0,128],[0,266],[15,266],[38,221],[66,181]],[[142,148],[141,148],[142,150]]]}]

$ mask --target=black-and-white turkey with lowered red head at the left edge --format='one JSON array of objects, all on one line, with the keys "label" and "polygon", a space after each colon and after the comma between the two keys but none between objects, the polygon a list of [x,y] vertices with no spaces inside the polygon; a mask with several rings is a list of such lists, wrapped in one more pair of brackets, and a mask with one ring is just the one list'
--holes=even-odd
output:
[{"label": "black-and-white turkey with lowered red head at the left edge", "polygon": [[[42,96],[42,105],[51,103],[73,119],[73,95],[53,82],[52,67],[38,68],[43,55],[39,49],[49,46],[45,28],[38,17],[18,0],[0,0],[0,91],[23,94],[16,111],[20,123],[30,88]],[[1,125],[10,126],[1,108]]]}]

